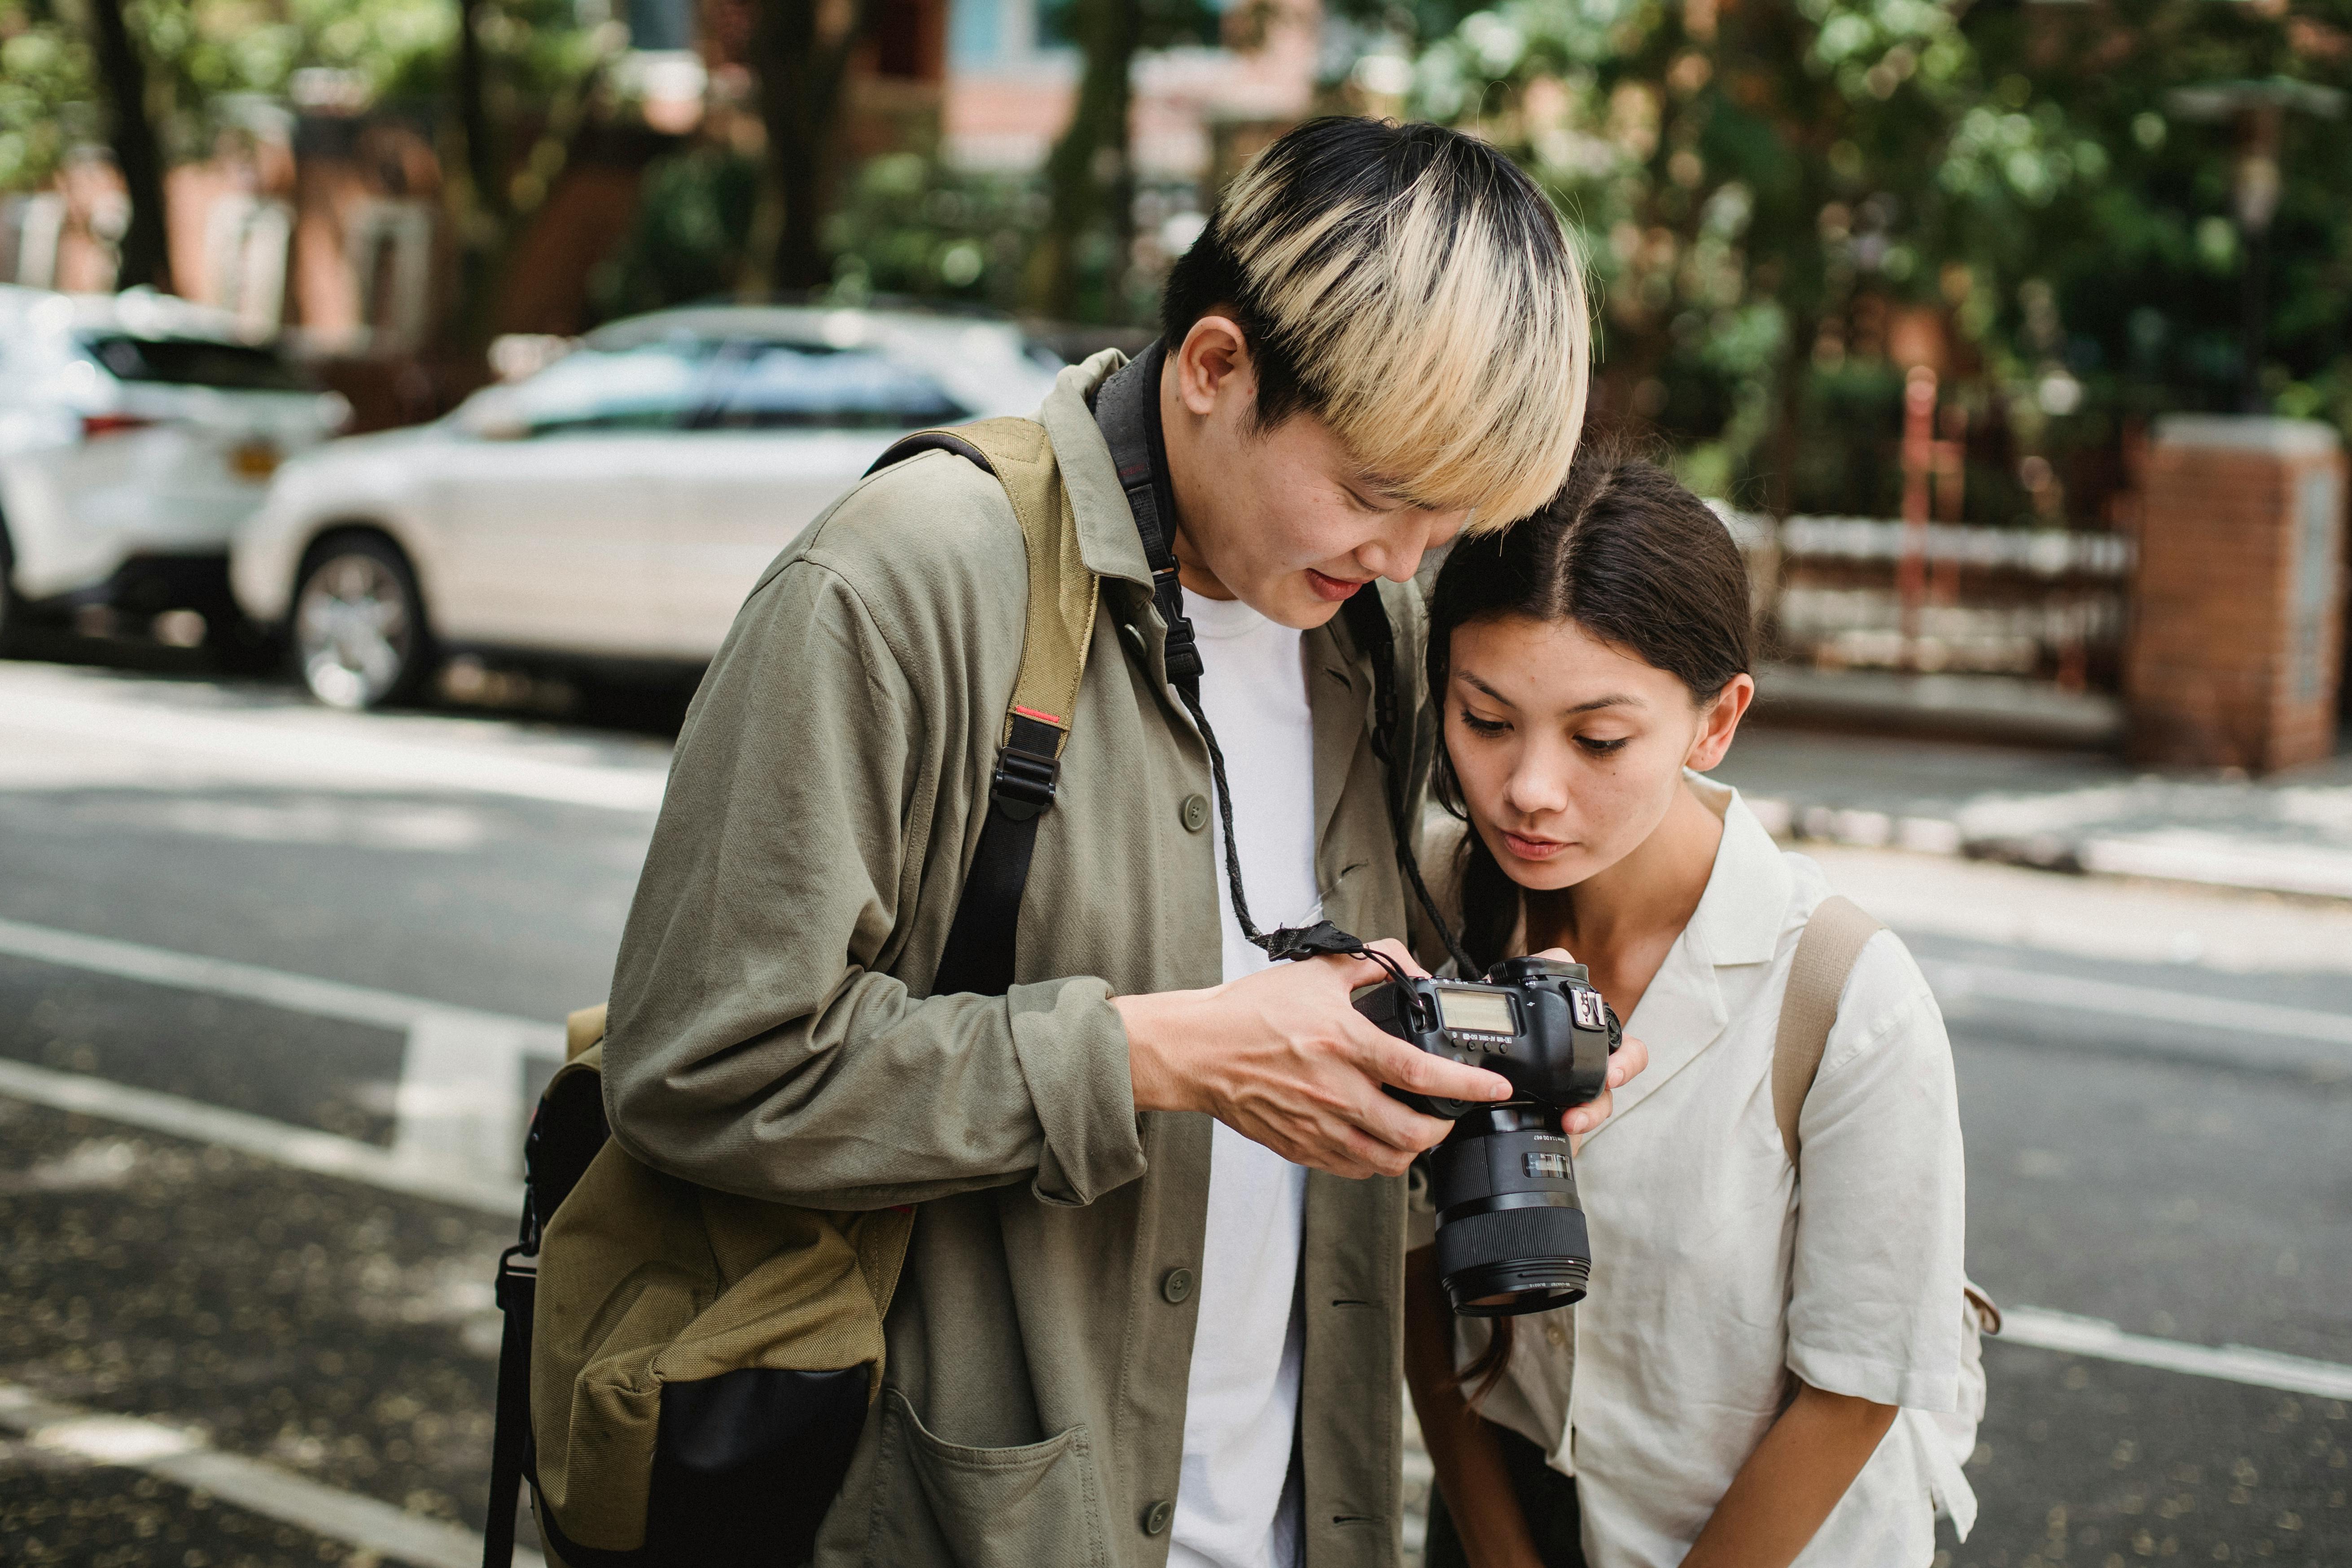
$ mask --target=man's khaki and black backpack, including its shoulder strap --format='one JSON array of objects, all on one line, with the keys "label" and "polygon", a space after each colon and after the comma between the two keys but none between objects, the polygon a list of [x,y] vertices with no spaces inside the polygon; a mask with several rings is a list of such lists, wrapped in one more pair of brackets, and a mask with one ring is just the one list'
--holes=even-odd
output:
[{"label": "man's khaki and black backpack, including its shoulder strap", "polygon": [[[927,449],[1004,484],[1028,555],[1021,672],[931,987],[995,994],[1011,983],[1021,886],[1054,802],[1098,583],[1044,425],[927,430],[875,468]],[[522,1481],[557,1568],[804,1561],[882,1392],[882,1319],[915,1211],[764,1204],[640,1164],[604,1124],[604,1009],[574,1013],[567,1034],[524,1147],[522,1241],[499,1262],[506,1340],[482,1561],[510,1568]]]}]

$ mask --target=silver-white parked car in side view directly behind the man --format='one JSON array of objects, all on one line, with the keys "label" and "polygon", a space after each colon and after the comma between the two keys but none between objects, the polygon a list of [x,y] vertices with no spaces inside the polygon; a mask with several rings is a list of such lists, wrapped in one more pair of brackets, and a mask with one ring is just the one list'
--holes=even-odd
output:
[{"label": "silver-white parked car in side view directly behind the man", "polygon": [[760,571],[891,440],[1033,414],[1056,367],[985,320],[614,322],[447,418],[287,463],[230,578],[339,708],[409,696],[456,649],[708,663]]}]

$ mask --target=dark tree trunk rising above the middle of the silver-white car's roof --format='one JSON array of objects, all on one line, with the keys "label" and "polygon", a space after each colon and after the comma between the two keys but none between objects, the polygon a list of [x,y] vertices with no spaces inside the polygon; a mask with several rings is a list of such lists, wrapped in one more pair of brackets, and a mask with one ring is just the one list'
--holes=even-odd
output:
[{"label": "dark tree trunk rising above the middle of the silver-white car's roof", "polygon": [[769,263],[776,292],[833,282],[823,228],[840,143],[842,82],[849,54],[873,28],[873,19],[875,0],[856,0],[842,35],[821,38],[818,0],[760,0],[750,49],[760,71],[769,179],[783,207]]}]

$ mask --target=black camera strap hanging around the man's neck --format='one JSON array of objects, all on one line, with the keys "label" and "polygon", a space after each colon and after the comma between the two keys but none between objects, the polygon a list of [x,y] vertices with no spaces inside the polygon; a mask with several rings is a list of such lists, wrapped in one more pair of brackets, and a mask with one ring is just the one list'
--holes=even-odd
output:
[{"label": "black camera strap hanging around the man's neck", "polygon": [[[1279,931],[1258,931],[1256,922],[1249,919],[1249,898],[1242,891],[1242,853],[1232,839],[1232,788],[1225,783],[1225,752],[1216,743],[1216,729],[1211,729],[1209,715],[1200,703],[1200,639],[1192,635],[1192,621],[1183,614],[1183,585],[1176,581],[1176,496],[1169,487],[1167,437],[1160,428],[1160,374],[1164,362],[1167,346],[1160,341],[1152,341],[1150,348],[1129,360],[1127,367],[1096,390],[1094,421],[1110,447],[1120,489],[1127,491],[1127,510],[1134,512],[1136,536],[1143,541],[1143,559],[1152,569],[1152,604],[1167,625],[1164,658],[1169,686],[1176,689],[1185,712],[1192,715],[1192,724],[1200,726],[1202,743],[1209,748],[1216,816],[1225,837],[1225,889],[1232,896],[1232,917],[1242,926],[1242,936],[1272,959],[1312,959],[1322,954],[1369,957],[1402,980],[1402,971],[1385,954],[1369,950],[1362,938],[1341,931],[1327,919]],[[1388,823],[1397,849],[1397,865],[1404,867],[1406,884],[1421,898],[1421,907],[1428,910],[1430,924],[1444,936],[1446,950],[1463,964],[1463,973],[1470,973],[1468,961],[1454,943],[1454,933],[1446,929],[1444,917],[1430,898],[1430,889],[1421,879],[1421,865],[1411,851],[1409,823],[1404,820],[1404,759],[1395,745],[1397,644],[1388,625],[1388,609],[1381,604],[1381,592],[1367,585],[1343,604],[1343,614],[1357,646],[1374,665],[1371,755],[1378,757],[1388,783]]]}]

